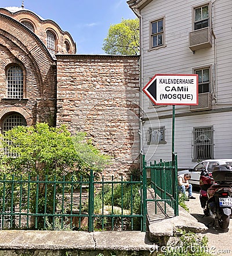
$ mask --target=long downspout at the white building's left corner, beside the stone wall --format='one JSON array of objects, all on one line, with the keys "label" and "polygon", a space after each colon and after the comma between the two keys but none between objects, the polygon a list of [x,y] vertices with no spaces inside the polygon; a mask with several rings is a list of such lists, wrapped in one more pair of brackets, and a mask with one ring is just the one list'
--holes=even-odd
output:
[{"label": "long downspout at the white building's left corner, beside the stone wall", "polygon": [[[143,27],[143,17],[140,13],[140,10],[137,8],[132,8],[135,15],[139,18],[139,52],[140,52],[140,59],[139,59],[139,137],[140,137],[140,155],[143,155],[143,93],[142,93],[142,86],[143,86],[143,34],[142,34],[142,27]],[[142,157],[140,158],[140,167],[142,168]]]}]

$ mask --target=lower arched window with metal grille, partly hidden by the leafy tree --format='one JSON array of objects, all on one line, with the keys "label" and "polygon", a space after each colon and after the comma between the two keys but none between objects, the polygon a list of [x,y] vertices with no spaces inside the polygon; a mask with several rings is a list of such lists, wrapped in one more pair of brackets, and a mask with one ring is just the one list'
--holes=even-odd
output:
[{"label": "lower arched window with metal grille, partly hidden by the leafy tree", "polygon": [[[26,119],[18,113],[13,113],[12,115],[7,116],[5,120],[3,120],[2,133],[11,130],[15,126],[27,126]],[[8,145],[9,144],[10,141],[8,141]],[[6,155],[8,155],[8,157],[16,156],[12,152],[9,152],[8,147],[3,148],[3,151]]]}]

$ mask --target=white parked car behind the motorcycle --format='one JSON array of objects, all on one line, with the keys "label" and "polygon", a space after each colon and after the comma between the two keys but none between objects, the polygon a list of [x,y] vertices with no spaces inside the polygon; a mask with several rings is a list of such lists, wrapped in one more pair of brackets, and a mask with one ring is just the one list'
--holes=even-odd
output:
[{"label": "white parked car behind the motorcycle", "polygon": [[232,159],[208,159],[201,161],[197,163],[197,165],[194,166],[194,168],[190,168],[187,170],[180,170],[177,172],[177,175],[181,175],[184,173],[190,173],[191,179],[189,182],[193,186],[199,186],[199,181],[200,181],[200,175],[201,171],[205,168],[209,172],[212,172],[213,168],[218,165],[232,165]]}]

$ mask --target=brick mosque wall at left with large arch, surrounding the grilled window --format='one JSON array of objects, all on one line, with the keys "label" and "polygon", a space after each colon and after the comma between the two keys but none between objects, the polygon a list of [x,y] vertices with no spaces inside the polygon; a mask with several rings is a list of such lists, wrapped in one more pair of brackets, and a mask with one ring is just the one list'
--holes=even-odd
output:
[{"label": "brick mosque wall at left with large arch, surrounding the grilled window", "polygon": [[[56,65],[38,38],[6,16],[0,19],[0,125],[10,112],[19,112],[27,125],[55,125]],[[6,73],[19,65],[24,76],[23,99],[7,98]]]}]

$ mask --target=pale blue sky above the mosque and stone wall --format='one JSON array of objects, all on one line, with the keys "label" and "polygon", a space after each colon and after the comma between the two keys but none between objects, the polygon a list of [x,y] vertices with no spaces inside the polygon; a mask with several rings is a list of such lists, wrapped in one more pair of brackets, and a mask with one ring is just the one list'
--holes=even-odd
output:
[{"label": "pale blue sky above the mosque and stone wall", "polygon": [[[135,19],[126,0],[24,0],[24,8],[56,22],[77,44],[77,54],[104,54],[111,24]],[[21,7],[21,0],[0,0],[0,8]]]}]

